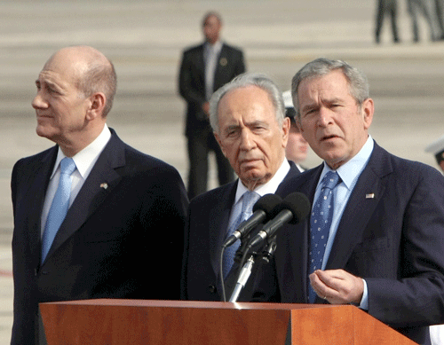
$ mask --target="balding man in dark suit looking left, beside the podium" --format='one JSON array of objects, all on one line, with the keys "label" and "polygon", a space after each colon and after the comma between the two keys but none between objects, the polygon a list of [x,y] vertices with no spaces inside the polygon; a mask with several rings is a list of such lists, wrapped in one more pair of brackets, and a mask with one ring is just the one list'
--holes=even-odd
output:
[{"label": "balding man in dark suit looking left, beside the podium", "polygon": [[[36,80],[36,132],[57,145],[12,171],[12,344],[45,342],[39,302],[179,297],[185,186],[108,129],[115,86],[112,63],[84,46],[57,51]],[[60,161],[75,164],[64,201]],[[163,256],[168,271],[150,263]]]}]

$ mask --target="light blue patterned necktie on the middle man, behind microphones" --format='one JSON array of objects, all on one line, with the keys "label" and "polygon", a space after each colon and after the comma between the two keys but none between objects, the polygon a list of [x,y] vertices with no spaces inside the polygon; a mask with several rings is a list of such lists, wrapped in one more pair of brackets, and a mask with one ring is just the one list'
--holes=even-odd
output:
[{"label": "light blue patterned necktie on the middle man, behind microphones", "polygon": [[[234,222],[228,227],[228,232],[226,237],[233,234],[233,232],[239,227],[239,225],[246,219],[248,219],[253,213],[253,206],[260,198],[260,195],[257,192],[244,192],[242,195],[242,208],[240,203],[237,204],[236,209],[234,209],[234,215],[239,213],[239,208],[242,209],[239,216],[234,216]],[[236,251],[241,245],[241,240],[238,239],[234,242],[234,244],[230,247],[226,247],[224,252],[224,263],[223,263],[223,272],[224,278],[228,275],[233,267],[234,256],[236,255]]]}]

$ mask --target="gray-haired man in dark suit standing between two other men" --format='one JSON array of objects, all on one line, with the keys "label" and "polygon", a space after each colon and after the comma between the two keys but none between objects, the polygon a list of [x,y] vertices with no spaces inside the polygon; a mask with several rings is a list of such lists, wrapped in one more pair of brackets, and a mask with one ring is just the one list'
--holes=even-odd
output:
[{"label": "gray-haired man in dark suit standing between two other men", "polygon": [[[211,98],[211,127],[239,179],[203,193],[190,204],[183,299],[222,300],[220,255],[236,218],[236,209],[245,203],[249,191],[254,191],[258,199],[276,192],[283,179],[299,174],[296,165],[285,158],[289,118],[284,112],[281,92],[274,82],[259,74],[242,74]],[[233,264],[233,258],[226,259]],[[225,270],[227,299],[236,282],[236,268],[234,264]],[[250,299],[253,277],[254,274],[242,291],[240,301]]]}]

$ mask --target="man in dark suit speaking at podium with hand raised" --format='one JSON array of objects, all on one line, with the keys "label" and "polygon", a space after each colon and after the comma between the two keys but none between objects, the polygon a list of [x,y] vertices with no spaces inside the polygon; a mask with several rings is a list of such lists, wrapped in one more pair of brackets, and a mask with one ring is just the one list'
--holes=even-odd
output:
[{"label": "man in dark suit speaking at podium with hand raised", "polygon": [[[281,230],[255,298],[353,303],[430,343],[427,325],[444,320],[443,177],[374,142],[367,79],[345,62],[308,63],[293,78],[292,95],[302,134],[324,162],[281,186],[305,193],[312,214]],[[327,174],[338,177],[336,187],[323,186]],[[325,200],[332,195],[326,226],[315,223],[323,192]],[[317,236],[323,231],[325,244]]]}]

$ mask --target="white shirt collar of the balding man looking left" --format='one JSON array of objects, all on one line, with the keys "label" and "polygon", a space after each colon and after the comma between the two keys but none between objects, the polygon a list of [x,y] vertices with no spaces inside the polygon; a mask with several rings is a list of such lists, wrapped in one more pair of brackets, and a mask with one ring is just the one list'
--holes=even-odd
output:
[{"label": "white shirt collar of the balding man looking left", "polygon": [[[82,151],[76,153],[73,158],[75,162],[75,167],[77,168],[80,175],[84,178],[86,174],[91,170],[92,163],[94,163],[99,154],[103,151],[109,138],[111,137],[111,132],[105,123],[102,131],[99,134],[99,137],[96,137],[94,141],[88,146],[86,146]],[[57,153],[57,159],[54,164],[54,169],[52,170],[51,178],[56,173],[57,169],[59,169],[59,163],[62,159],[64,159],[66,155],[61,151],[59,147],[59,151]]]}]

